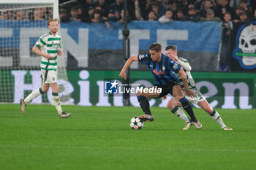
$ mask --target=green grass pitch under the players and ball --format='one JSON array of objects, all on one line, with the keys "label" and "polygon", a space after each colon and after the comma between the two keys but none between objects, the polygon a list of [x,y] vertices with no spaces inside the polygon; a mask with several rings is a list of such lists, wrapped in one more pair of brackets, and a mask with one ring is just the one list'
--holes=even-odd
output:
[{"label": "green grass pitch under the players and ball", "polygon": [[222,131],[202,109],[203,124],[182,131],[184,122],[166,108],[152,107],[156,120],[132,130],[135,107],[0,104],[0,169],[255,169],[255,109],[217,109],[233,131]]}]

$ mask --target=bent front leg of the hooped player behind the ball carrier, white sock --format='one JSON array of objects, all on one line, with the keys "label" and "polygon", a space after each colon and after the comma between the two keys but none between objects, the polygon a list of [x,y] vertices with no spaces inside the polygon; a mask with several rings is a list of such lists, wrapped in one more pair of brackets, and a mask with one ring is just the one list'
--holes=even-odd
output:
[{"label": "bent front leg of the hooped player behind the ball carrier, white sock", "polygon": [[183,110],[179,107],[182,107],[181,102],[178,101],[177,98],[171,98],[167,102],[167,108],[170,109],[170,111],[174,114],[177,115],[181,120],[184,120],[185,127],[182,128],[182,130],[188,130],[191,125],[193,125],[187,115],[183,112]]}]

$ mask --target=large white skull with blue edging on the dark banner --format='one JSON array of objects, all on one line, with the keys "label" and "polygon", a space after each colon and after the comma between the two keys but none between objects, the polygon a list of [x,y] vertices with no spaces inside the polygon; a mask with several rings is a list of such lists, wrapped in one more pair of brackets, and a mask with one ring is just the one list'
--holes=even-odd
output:
[{"label": "large white skull with blue edging on the dark banner", "polygon": [[236,58],[244,69],[256,68],[256,25],[253,27],[254,30],[250,25],[244,24],[239,28],[236,36],[233,58]]}]

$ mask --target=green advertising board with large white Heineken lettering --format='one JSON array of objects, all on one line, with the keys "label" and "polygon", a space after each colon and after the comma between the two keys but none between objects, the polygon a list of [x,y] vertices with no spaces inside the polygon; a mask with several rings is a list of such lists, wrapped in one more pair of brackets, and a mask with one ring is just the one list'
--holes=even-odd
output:
[{"label": "green advertising board with large white Heineken lettering", "polygon": [[[120,71],[87,71],[74,70],[67,71],[68,80],[60,79],[59,96],[64,97],[70,94],[69,101],[62,104],[77,104],[80,106],[123,106],[123,93],[106,94],[105,82],[116,80],[116,88],[122,87],[121,77],[118,77]],[[0,72],[0,102],[9,102],[18,104],[20,98],[27,96],[31,90],[41,84],[39,70],[12,70]],[[256,107],[256,77],[253,73],[223,73],[223,72],[192,72],[195,77],[197,89],[207,98],[211,107],[223,109],[252,109]],[[9,84],[1,83],[4,77],[9,77]],[[151,87],[154,85],[152,75],[148,71],[131,71],[131,87],[140,85]],[[121,89],[122,90],[122,89]],[[122,90],[124,91],[124,90]],[[3,98],[3,96],[10,96]],[[167,96],[171,98],[170,95]],[[167,100],[159,98],[150,98],[151,106],[166,107]],[[130,104],[139,107],[138,99],[131,94]],[[51,90],[37,98],[34,98],[32,104],[52,103]],[[197,107],[194,105],[194,107]]]}]

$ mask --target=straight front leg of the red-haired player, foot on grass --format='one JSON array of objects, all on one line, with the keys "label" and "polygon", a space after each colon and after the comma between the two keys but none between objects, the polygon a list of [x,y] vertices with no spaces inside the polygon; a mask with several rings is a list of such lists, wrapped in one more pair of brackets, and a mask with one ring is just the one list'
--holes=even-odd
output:
[{"label": "straight front leg of the red-haired player, foot on grass", "polygon": [[53,104],[55,105],[60,118],[67,118],[71,113],[65,113],[61,109],[61,101],[59,100],[59,85],[57,83],[50,83],[50,88],[53,90]]}]

